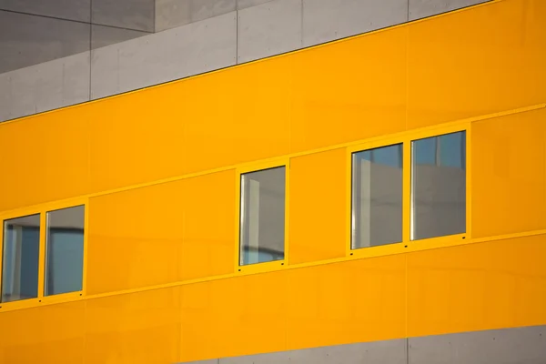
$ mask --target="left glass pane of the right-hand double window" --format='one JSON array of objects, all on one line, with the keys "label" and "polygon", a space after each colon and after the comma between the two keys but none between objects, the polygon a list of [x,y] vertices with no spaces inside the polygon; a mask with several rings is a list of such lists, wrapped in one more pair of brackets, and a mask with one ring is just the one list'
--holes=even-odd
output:
[{"label": "left glass pane of the right-hand double window", "polygon": [[402,241],[402,145],[352,155],[351,248]]}]

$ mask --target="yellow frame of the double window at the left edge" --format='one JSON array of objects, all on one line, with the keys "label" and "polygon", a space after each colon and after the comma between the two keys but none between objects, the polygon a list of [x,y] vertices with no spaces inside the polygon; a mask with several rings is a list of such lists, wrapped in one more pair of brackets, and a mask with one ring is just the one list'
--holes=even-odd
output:
[{"label": "yellow frame of the double window at the left edge", "polygon": [[[45,250],[47,213],[68,207],[84,206],[84,261],[82,272],[82,289],[76,292],[62,293],[58,295],[45,296]],[[89,199],[87,197],[71,198],[62,201],[49,202],[34,207],[23,207],[15,210],[0,213],[0,285],[4,271],[4,221],[17,217],[40,215],[40,241],[38,258],[38,294],[37,298],[28,298],[12,302],[0,302],[0,312],[20,308],[32,308],[41,305],[74,301],[83,298],[86,294],[86,272],[87,272],[87,238],[89,221]],[[1,288],[0,288],[1,289]]]}]

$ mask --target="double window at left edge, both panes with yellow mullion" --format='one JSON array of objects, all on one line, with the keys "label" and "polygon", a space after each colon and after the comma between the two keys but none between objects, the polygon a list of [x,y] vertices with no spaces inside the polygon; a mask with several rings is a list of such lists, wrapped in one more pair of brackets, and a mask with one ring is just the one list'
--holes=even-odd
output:
[{"label": "double window at left edge, both panes with yellow mullion", "polygon": [[4,220],[1,302],[82,290],[84,217],[82,205]]}]

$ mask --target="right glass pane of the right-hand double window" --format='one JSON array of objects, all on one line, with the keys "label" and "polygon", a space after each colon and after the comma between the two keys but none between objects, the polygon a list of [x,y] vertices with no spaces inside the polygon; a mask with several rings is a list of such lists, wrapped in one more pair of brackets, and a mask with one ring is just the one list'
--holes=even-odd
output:
[{"label": "right glass pane of the right-hand double window", "polygon": [[466,133],[414,140],[411,239],[466,232]]}]

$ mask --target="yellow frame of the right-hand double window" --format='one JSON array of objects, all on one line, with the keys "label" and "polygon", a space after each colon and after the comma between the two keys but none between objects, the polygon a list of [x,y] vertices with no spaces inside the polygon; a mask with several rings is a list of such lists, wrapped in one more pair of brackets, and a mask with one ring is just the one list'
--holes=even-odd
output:
[{"label": "yellow frame of the right-hand double window", "polygon": [[[371,258],[391,254],[406,253],[414,250],[443,248],[470,243],[471,237],[471,123],[469,121],[454,123],[450,126],[423,128],[401,133],[396,136],[379,137],[369,142],[347,147],[347,220],[346,256],[353,258]],[[432,136],[464,131],[466,133],[466,232],[437,238],[411,240],[411,144]],[[369,248],[352,248],[352,157],[360,151],[378,147],[389,147],[402,144],[402,241]]]}]

